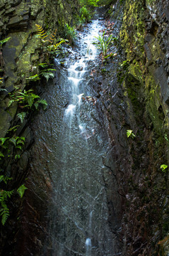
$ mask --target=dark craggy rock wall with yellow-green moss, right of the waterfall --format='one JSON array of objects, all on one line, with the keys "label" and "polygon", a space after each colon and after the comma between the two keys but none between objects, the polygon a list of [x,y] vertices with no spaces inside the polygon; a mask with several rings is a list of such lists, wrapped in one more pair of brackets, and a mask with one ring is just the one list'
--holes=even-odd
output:
[{"label": "dark craggy rock wall with yellow-green moss, right of the waterfall", "polygon": [[[124,58],[117,68],[114,64],[114,75],[105,75],[103,98],[114,175],[125,198],[117,235],[122,235],[122,255],[168,255],[168,169],[161,169],[169,164],[168,1],[120,1],[121,10],[122,4],[119,54]],[[118,7],[112,18],[116,12]],[[110,73],[112,65],[107,63]],[[133,139],[127,139],[129,129]]]}]

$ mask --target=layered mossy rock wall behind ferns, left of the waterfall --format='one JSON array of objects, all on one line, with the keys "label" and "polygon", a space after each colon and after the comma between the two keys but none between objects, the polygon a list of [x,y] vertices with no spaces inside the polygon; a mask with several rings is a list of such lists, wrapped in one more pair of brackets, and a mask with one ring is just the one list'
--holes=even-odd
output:
[{"label": "layered mossy rock wall behind ferns, left of the waterfall", "polygon": [[[1,183],[1,188],[6,191],[16,190],[25,183],[30,171],[33,171],[30,166],[30,150],[33,144],[30,123],[38,110],[35,111],[33,107],[23,110],[18,102],[13,102],[11,105],[9,102],[13,93],[18,90],[24,92],[31,89],[33,93],[40,95],[41,88],[47,84],[45,79],[35,82],[27,79],[31,75],[39,74],[40,63],[51,62],[51,55],[45,50],[47,43],[43,43],[37,36],[35,24],[42,26],[49,35],[57,29],[56,38],[58,38],[63,36],[66,23],[74,24],[76,13],[78,13],[76,0],[71,2],[59,0],[52,3],[48,0],[2,0],[0,3],[0,42],[10,37],[6,43],[0,43],[0,138],[25,138],[21,149],[16,149],[16,145],[13,146],[11,142],[8,149],[4,149],[1,142],[0,151],[4,154],[0,160],[1,175],[12,178],[7,185]],[[21,122],[17,114],[23,111],[26,115]],[[13,127],[16,128],[11,129]],[[35,184],[34,181],[37,179],[39,182]],[[23,252],[24,255],[30,255],[32,252],[29,251],[29,246],[34,248],[34,253],[40,255],[42,249],[40,239],[44,235],[46,237],[46,223],[42,220],[42,215],[46,214],[45,202],[49,193],[47,176],[44,172],[41,176],[32,172],[26,186],[30,193],[25,193],[24,199],[21,200],[15,193],[11,201],[7,201],[10,215],[6,224],[1,225],[0,255],[23,255]],[[41,209],[40,213],[38,213],[39,209]],[[35,228],[37,226],[38,228]]]}]

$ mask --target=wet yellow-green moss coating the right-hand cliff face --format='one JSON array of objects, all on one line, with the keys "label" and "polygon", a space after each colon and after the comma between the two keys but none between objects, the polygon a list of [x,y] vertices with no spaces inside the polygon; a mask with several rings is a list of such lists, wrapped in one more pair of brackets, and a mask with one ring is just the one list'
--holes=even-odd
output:
[{"label": "wet yellow-green moss coating the right-hand cliff face", "polygon": [[[131,116],[131,120],[134,115],[135,121],[132,124],[132,129],[137,131],[137,139],[130,145],[130,154],[133,161],[132,169],[140,176],[140,181],[136,178],[133,179],[134,185],[129,181],[129,194],[132,203],[129,200],[128,210],[130,209],[130,213],[126,215],[128,221],[133,221],[133,223],[138,223],[138,220],[140,222],[142,218],[142,222],[138,223],[137,228],[132,228],[129,224],[126,226],[132,232],[128,239],[133,241],[133,249],[131,248],[127,255],[135,255],[134,250],[138,250],[141,255],[157,255],[158,241],[168,234],[168,218],[164,217],[166,216],[165,211],[168,209],[165,203],[168,195],[168,172],[164,174],[160,170],[162,163],[168,164],[168,73],[161,44],[162,41],[167,43],[165,36],[161,36],[163,27],[167,26],[165,23],[167,18],[163,21],[162,14],[160,11],[158,12],[158,7],[165,6],[165,4],[165,1],[163,3],[162,1],[161,3],[157,3],[157,1],[125,1],[120,31],[120,43],[124,50],[124,62],[126,61],[127,68],[121,65],[119,81],[122,83],[124,95],[127,97],[127,113]],[[153,11],[156,11],[156,14]],[[163,16],[165,14],[163,13]],[[140,136],[141,129],[142,136]],[[141,146],[141,144],[145,144],[145,146]],[[137,161],[140,157],[142,160]],[[143,158],[146,158],[146,162]],[[146,176],[148,182],[141,181]],[[136,195],[141,201],[137,201]],[[131,219],[132,208],[137,209],[135,212],[137,220],[134,216]],[[143,209],[144,213],[145,210],[147,212],[144,218],[141,217]],[[151,227],[150,233],[146,229],[145,223]],[[144,244],[142,249],[141,243],[137,244],[136,238],[134,238],[136,230],[137,235],[141,234],[139,233],[141,225],[142,232],[147,233],[148,239],[146,244],[142,241],[142,245]],[[166,252],[167,250],[161,249],[160,255],[167,255]]]}]

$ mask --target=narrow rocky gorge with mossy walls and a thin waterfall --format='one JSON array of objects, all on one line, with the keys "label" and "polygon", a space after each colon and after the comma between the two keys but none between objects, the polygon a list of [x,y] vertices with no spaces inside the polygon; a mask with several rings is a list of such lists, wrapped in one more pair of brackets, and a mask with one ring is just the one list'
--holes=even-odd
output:
[{"label": "narrow rocky gorge with mossy walls and a thin waterfall", "polygon": [[[64,62],[53,61],[56,77],[28,83],[39,60],[51,61],[35,24],[62,35],[79,8],[78,1],[0,4],[0,36],[11,37],[0,48],[0,137],[20,125],[15,136],[25,138],[19,159],[1,160],[1,174],[13,178],[1,189],[28,188],[8,203],[0,255],[167,256],[168,1],[99,8],[74,48],[64,49]],[[93,60],[85,41],[94,20],[99,33],[116,38],[105,61],[99,50]],[[21,123],[17,103],[8,107],[17,86],[33,88],[47,110],[30,111]]]}]

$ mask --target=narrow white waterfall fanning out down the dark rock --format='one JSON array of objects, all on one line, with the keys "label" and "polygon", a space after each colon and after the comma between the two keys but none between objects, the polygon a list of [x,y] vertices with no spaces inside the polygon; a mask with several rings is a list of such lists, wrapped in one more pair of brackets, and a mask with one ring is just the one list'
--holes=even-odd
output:
[{"label": "narrow white waterfall fanning out down the dark rock", "polygon": [[68,60],[69,68],[60,68],[56,60],[56,82],[45,95],[49,107],[35,130],[36,139],[47,149],[40,152],[36,169],[45,169],[52,179],[49,240],[43,256],[112,256],[114,252],[105,188],[110,170],[103,164],[108,143],[89,85],[99,54],[92,43],[102,23],[93,20],[78,38],[76,60]]}]

